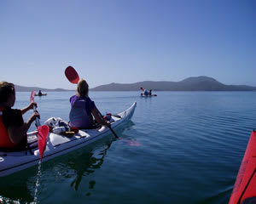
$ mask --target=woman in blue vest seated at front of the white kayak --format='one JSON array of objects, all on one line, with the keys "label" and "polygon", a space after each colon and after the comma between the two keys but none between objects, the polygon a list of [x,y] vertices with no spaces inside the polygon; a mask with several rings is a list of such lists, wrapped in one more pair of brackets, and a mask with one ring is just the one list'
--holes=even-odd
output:
[{"label": "woman in blue vest seated at front of the white kayak", "polygon": [[89,86],[84,79],[78,82],[77,94],[73,95],[69,100],[71,103],[71,111],[69,113],[69,125],[71,127],[79,128],[92,128],[94,121],[93,116],[97,123],[110,127],[108,121],[102,119],[102,116],[94,101],[88,96]]}]

